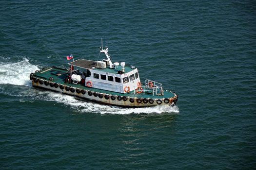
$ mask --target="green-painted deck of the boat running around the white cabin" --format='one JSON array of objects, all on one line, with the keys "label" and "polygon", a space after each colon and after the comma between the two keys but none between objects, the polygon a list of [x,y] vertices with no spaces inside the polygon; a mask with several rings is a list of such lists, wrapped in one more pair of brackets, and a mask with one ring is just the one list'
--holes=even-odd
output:
[{"label": "green-painted deck of the boat running around the white cabin", "polygon": [[[127,68],[128,67],[126,67],[125,69],[127,69]],[[97,69],[99,69],[99,68],[97,68]],[[115,71],[114,69],[110,69],[110,68],[106,68],[106,69],[109,69],[109,71],[113,70],[113,73],[117,73],[117,71]],[[130,68],[130,69],[132,70],[132,68]],[[131,71],[131,70],[127,69],[127,72]],[[104,71],[105,71],[105,69],[104,69]],[[90,87],[80,85],[80,84],[76,85],[76,84],[65,83],[65,78],[69,74],[70,73],[68,73],[67,70],[64,68],[46,68],[46,69],[40,70],[39,72],[34,73],[34,76],[37,78],[43,79],[43,80],[48,80],[48,81],[49,81],[49,78],[52,77],[53,78],[52,82],[56,82],[58,84],[73,86],[73,87],[77,87],[77,88],[81,88],[81,89],[85,89],[85,90],[95,91],[98,93],[112,94],[112,95],[118,95],[118,96],[137,97],[137,98],[156,98],[156,99],[175,97],[175,95],[169,91],[164,91],[163,96],[157,96],[157,95],[153,96],[152,94],[147,94],[147,93],[145,93],[145,94],[135,93],[134,94],[134,91],[130,91],[129,93],[123,94],[123,93],[117,93],[117,92],[113,92],[113,91],[102,90],[102,89],[98,89],[98,88],[90,88]]]}]

